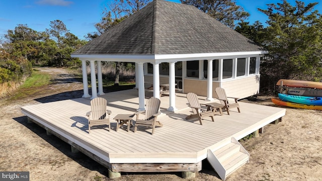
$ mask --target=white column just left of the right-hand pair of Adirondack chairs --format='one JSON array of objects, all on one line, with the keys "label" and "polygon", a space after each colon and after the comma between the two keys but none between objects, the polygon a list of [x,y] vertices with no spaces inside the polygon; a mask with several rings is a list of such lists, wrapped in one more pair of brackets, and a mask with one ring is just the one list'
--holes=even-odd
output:
[{"label": "white column just left of the right-hand pair of Adirondack chairs", "polygon": [[168,111],[176,111],[176,73],[175,63],[169,62],[169,108]]}]

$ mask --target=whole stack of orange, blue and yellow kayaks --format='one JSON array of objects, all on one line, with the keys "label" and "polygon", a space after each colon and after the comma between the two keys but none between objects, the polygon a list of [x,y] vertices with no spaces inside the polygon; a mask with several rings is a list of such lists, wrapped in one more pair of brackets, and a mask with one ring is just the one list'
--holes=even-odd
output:
[{"label": "whole stack of orange, blue and yellow kayaks", "polygon": [[[280,79],[279,99],[272,98],[278,106],[322,110],[322,82]],[[285,89],[285,91],[283,91]]]}]

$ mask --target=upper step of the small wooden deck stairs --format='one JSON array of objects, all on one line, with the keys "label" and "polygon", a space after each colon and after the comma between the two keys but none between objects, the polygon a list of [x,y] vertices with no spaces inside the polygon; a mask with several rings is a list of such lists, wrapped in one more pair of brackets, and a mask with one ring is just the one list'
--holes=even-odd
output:
[{"label": "upper step of the small wooden deck stairs", "polygon": [[227,158],[229,158],[232,155],[234,155],[235,153],[239,152],[239,150],[240,150],[240,145],[231,142],[231,143],[223,146],[222,148],[214,151],[214,155],[216,155],[216,157],[218,158],[218,160],[220,162],[223,162]]}]

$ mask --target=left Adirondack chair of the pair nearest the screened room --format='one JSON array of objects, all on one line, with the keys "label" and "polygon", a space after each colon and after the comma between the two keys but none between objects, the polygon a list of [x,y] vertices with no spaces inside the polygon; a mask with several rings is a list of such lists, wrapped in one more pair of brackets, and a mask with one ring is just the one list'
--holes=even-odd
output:
[{"label": "left Adirondack chair of the pair nearest the screened room", "polygon": [[212,121],[214,122],[214,114],[211,109],[202,109],[201,105],[198,101],[198,96],[195,93],[188,93],[187,100],[189,103],[189,107],[192,109],[193,114],[186,117],[186,119],[198,118],[200,124],[202,125],[201,120],[205,117],[211,117]]}]

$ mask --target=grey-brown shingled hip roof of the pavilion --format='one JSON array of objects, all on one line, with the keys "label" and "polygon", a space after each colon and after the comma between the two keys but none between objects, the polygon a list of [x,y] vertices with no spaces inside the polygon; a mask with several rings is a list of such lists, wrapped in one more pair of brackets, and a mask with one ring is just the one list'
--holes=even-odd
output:
[{"label": "grey-brown shingled hip roof of the pavilion", "polygon": [[253,51],[261,51],[261,47],[196,7],[154,0],[73,55]]}]

